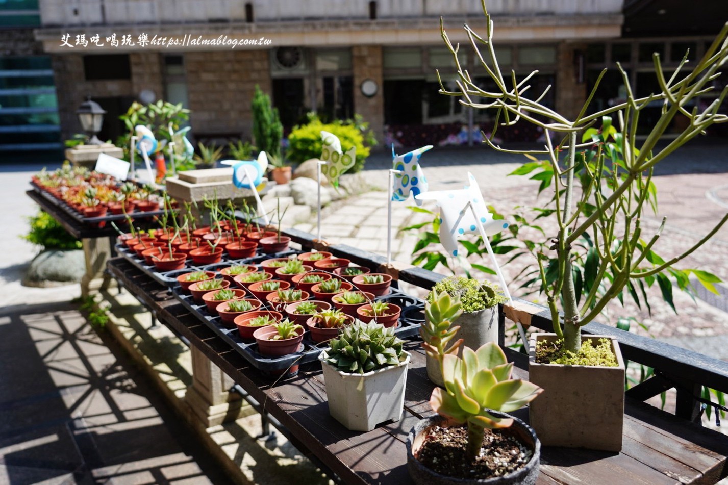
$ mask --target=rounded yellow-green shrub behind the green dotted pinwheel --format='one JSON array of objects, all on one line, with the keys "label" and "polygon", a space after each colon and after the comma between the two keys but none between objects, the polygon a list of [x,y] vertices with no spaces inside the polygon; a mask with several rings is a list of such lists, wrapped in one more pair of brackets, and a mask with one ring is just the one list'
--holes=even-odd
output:
[{"label": "rounded yellow-green shrub behind the green dotted pinwheel", "polygon": [[360,122],[358,118],[353,121],[348,119],[344,122],[337,120],[328,124],[322,123],[317,117],[309,117],[309,119],[307,125],[293,127],[293,131],[288,135],[287,155],[291,162],[301,163],[307,159],[320,157],[323,148],[321,130],[325,130],[339,137],[341,149],[344,152],[352,145],[357,147],[357,161],[349,169],[349,173],[355,173],[363,169],[364,162],[370,151],[369,146],[365,144],[364,138],[366,136],[368,143],[373,141],[368,133],[367,124]]}]

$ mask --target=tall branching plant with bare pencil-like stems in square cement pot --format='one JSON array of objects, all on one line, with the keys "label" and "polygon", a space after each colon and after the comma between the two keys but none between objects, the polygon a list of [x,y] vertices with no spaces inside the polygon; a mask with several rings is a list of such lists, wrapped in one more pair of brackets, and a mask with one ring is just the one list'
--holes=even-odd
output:
[{"label": "tall branching plant with bare pencil-like stems in square cement pot", "polygon": [[[652,236],[644,234],[641,225],[646,207],[654,206],[655,202],[652,182],[655,165],[711,125],[728,122],[728,115],[720,111],[728,87],[705,108],[698,107],[697,99],[713,90],[713,81],[728,59],[728,25],[708,47],[703,58],[692,64],[692,69],[684,69],[689,55],[686,53],[678,67],[665,76],[660,55],[655,53],[652,57],[654,76],[660,90],[647,96],[637,97],[634,94],[628,73],[617,63],[627,91],[625,99],[587,114],[605,69],[579,114],[574,119],[567,119],[540,102],[545,93],[530,95],[527,83],[535,71],[520,81],[515,73],[502,73],[494,49],[493,21],[486,10],[485,0],[481,0],[481,6],[486,16],[486,36],[475,33],[468,25],[464,29],[476,60],[494,88],[485,90],[475,84],[477,76],[471,76],[460,65],[459,45],[452,44],[441,21],[443,41],[456,63],[459,90],[448,90],[440,80],[440,93],[460,98],[464,106],[493,111],[496,128],[523,121],[544,130],[544,150],[506,150],[494,145],[487,137],[484,141],[492,149],[526,154],[535,162],[537,157],[546,158],[545,163],[531,165],[533,169],[529,167],[526,170],[538,168],[535,178],[544,184],[553,184],[554,197],[543,216],[553,219],[558,225],[558,232],[549,234],[545,241],[534,245],[531,252],[537,256],[541,290],[547,297],[555,334],[563,338],[566,350],[578,352],[582,346],[580,328],[600,315],[609,301],[620,296],[625,288],[636,293],[641,281],[648,285],[655,281],[661,287],[665,285],[667,276],[663,272],[669,272],[673,264],[707,242],[728,220],[727,214],[695,245],[668,261],[654,258],[652,249],[660,238],[664,220]],[[482,46],[485,55],[478,46]],[[660,105],[660,116],[650,125],[644,141],[638,141],[638,123],[645,123],[641,114],[648,106],[654,105]],[[676,138],[665,146],[658,146],[678,115],[685,117],[687,123]],[[619,130],[612,130],[613,118],[617,119]],[[601,130],[593,127],[600,122]],[[491,136],[495,133],[496,129]],[[577,143],[579,134],[585,143]],[[552,135],[561,137],[556,146],[551,141]],[[593,244],[579,248],[578,242],[585,238]],[[581,293],[585,295],[583,299],[577,294],[579,277],[574,271],[574,263],[579,257],[585,261],[585,272],[588,273],[587,281],[584,281],[586,275],[579,274]],[[708,279],[701,281],[704,285],[712,285],[713,275],[697,270],[692,270],[692,273],[699,280],[701,277]],[[672,275],[678,281],[681,279],[674,272]]]}]

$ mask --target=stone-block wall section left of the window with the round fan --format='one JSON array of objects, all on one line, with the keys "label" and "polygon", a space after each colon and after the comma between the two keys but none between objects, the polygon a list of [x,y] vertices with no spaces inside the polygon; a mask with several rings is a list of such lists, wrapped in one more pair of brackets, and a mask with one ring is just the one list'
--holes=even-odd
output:
[{"label": "stone-block wall section left of the window with the round fan", "polygon": [[189,52],[185,67],[194,133],[250,139],[256,84],[272,94],[268,51]]}]

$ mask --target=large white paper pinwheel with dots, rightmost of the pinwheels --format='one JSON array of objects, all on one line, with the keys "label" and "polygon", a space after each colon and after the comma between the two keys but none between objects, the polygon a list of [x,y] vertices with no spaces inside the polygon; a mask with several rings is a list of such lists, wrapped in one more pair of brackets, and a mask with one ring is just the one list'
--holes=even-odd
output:
[{"label": "large white paper pinwheel with dots, rightmost of the pinwheels", "polygon": [[486,202],[483,201],[483,194],[480,194],[478,181],[467,173],[470,181],[469,186],[459,190],[439,190],[425,192],[417,195],[419,200],[434,200],[440,207],[440,242],[448,254],[457,256],[457,238],[462,234],[478,234],[478,224],[475,221],[468,202],[475,208],[475,213],[486,230],[486,235],[498,234],[508,227],[508,223],[502,219],[494,219],[493,214],[488,212]]}]

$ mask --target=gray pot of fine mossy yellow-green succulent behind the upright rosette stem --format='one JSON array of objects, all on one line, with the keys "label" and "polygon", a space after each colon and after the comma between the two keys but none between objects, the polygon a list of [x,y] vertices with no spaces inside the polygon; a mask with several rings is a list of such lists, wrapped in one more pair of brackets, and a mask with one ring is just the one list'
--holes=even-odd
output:
[{"label": "gray pot of fine mossy yellow-green succulent behind the upright rosette stem", "polygon": [[[459,327],[457,336],[463,340],[466,347],[477,349],[486,342],[498,342],[498,304],[506,300],[505,296],[499,293],[498,285],[487,280],[451,276],[435,284],[427,299],[432,301],[435,294],[443,292],[460,302],[463,315],[457,321]],[[428,318],[427,312],[425,318]],[[429,328],[431,327],[426,323],[422,331],[428,331]],[[429,356],[427,376],[435,384],[443,385],[440,366]]]}]

